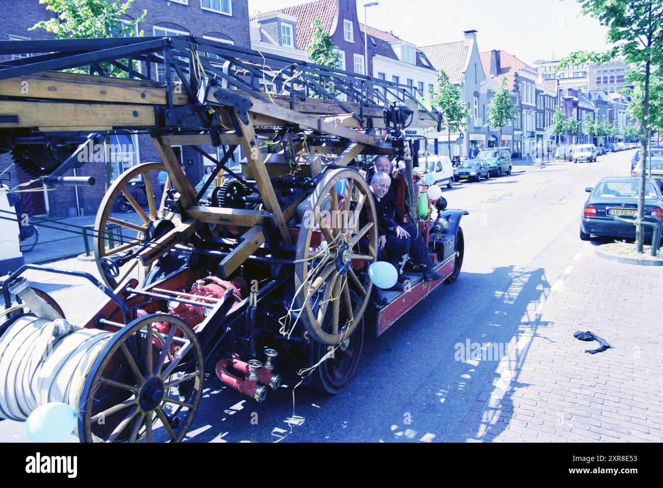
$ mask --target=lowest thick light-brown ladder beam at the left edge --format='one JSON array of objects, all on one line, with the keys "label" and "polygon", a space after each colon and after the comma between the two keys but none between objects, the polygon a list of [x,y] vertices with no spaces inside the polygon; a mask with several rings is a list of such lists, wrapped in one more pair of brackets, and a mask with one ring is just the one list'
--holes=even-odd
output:
[{"label": "lowest thick light-brown ladder beam at the left edge", "polygon": [[107,127],[156,127],[154,107],[146,105],[2,100],[0,118],[5,118],[0,119],[0,128],[78,128],[86,122]]}]

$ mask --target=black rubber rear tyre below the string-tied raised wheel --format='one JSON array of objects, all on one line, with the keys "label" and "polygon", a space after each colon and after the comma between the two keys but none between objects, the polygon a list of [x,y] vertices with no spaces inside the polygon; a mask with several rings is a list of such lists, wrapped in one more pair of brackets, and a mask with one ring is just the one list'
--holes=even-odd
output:
[{"label": "black rubber rear tyre below the string-tied raised wheel", "polygon": [[[357,294],[350,290],[350,297],[353,305],[356,301],[359,301]],[[341,307],[343,310],[343,307]],[[344,317],[344,313],[341,314],[341,319]],[[330,317],[330,315],[328,315]],[[344,320],[344,319],[343,319]],[[322,362],[320,366],[316,367],[311,373],[311,384],[310,387],[316,391],[321,391],[322,393],[328,393],[330,395],[335,395],[339,393],[349,383],[350,379],[357,371],[357,365],[359,364],[359,357],[361,356],[361,350],[364,346],[364,320],[361,318],[361,322],[357,324],[354,332],[349,336],[347,340],[347,346],[339,346],[334,350],[333,355],[330,356],[327,360]],[[320,361],[320,358],[330,352],[335,346],[328,346],[327,344],[322,344],[322,342],[314,341],[312,347],[312,364],[316,364]]]}]

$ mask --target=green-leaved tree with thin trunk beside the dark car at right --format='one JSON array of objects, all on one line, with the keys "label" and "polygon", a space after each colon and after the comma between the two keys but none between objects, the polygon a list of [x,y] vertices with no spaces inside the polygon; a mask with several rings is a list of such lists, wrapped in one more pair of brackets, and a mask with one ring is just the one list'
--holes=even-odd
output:
[{"label": "green-leaved tree with thin trunk beside the dark car at right", "polygon": [[[573,52],[560,64],[593,61],[599,64],[621,56],[631,65],[631,78],[642,90],[640,118],[640,180],[638,183],[638,220],[644,217],[646,173],[644,157],[649,143],[650,83],[652,70],[663,66],[663,2],[660,0],[577,0],[582,13],[594,17],[608,28],[607,52]],[[642,254],[644,232],[636,226],[636,252]]]}]

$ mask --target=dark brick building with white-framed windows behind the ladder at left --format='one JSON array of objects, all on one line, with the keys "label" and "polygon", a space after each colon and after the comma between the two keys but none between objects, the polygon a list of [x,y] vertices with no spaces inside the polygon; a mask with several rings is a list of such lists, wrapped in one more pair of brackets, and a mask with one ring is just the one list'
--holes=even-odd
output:
[{"label": "dark brick building with white-framed windows behind the ladder at left", "polygon": [[[125,20],[137,19],[147,11],[143,22],[137,26],[144,36],[174,36],[195,34],[218,42],[226,42],[249,48],[249,5],[248,0],[134,0]],[[54,13],[46,11],[46,6],[38,0],[12,0],[2,3],[0,9],[1,40],[40,40],[52,38],[43,29],[29,30],[39,21],[48,20]],[[0,60],[1,61],[1,60]],[[108,141],[111,151],[111,179],[115,179],[127,168],[140,162],[158,162],[159,158],[147,135],[117,134]],[[216,148],[204,148],[217,156]],[[194,183],[202,177],[204,159],[194,150],[174,148],[180,160],[186,165],[186,175]],[[12,163],[11,156],[0,154],[0,172]],[[209,163],[209,162],[208,162]],[[87,164],[80,168],[78,175],[94,176],[97,183],[93,187],[65,187],[55,191],[24,193],[27,213],[30,215],[95,215],[105,194],[105,162]],[[3,175],[9,185],[29,181],[29,177],[17,166],[11,166]],[[40,185],[33,183],[31,186]],[[158,188],[158,185],[154,187]]]}]

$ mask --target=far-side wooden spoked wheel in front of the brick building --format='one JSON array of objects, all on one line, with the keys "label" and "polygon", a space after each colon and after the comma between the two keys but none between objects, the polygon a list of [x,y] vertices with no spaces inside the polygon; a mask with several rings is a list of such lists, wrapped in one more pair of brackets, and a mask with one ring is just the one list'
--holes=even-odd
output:
[{"label": "far-side wooden spoked wheel in front of the brick building", "polygon": [[[138,259],[132,259],[109,275],[106,272],[107,268],[103,266],[103,258],[117,256],[141,246],[149,238],[151,224],[159,219],[171,220],[174,216],[165,207],[166,191],[170,188],[170,175],[166,177],[163,191],[160,188],[153,189],[152,185],[152,181],[157,180],[156,177],[151,179],[151,176],[165,170],[166,168],[160,163],[133,166],[115,180],[101,201],[94,224],[94,257],[101,279],[112,289],[117,288],[130,276],[137,278],[139,286],[142,285],[150,267],[142,266]],[[139,189],[138,193],[134,191],[134,194],[139,195],[134,197],[131,193],[131,183],[137,182],[139,177],[138,182],[145,184],[145,191],[142,189]],[[160,200],[156,200],[155,195],[161,195]],[[116,226],[121,229],[121,239]]]}]

